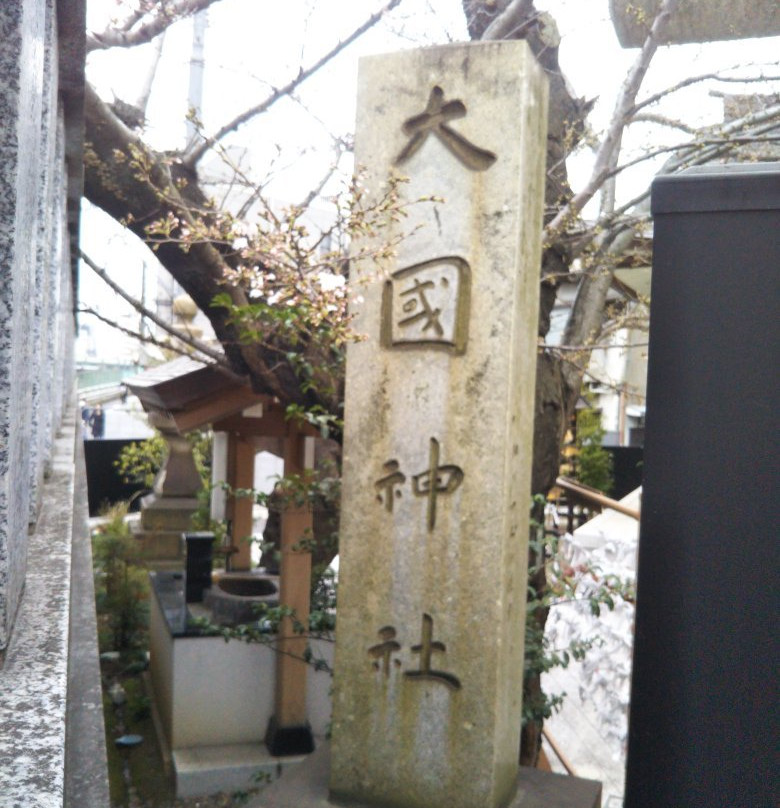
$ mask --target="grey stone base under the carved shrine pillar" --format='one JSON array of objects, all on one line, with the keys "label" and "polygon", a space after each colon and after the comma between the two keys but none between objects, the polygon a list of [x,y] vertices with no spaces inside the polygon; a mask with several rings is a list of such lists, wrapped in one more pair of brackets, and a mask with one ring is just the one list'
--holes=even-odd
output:
[{"label": "grey stone base under the carved shrine pillar", "polygon": [[[286,772],[247,808],[336,808],[328,799],[330,744],[323,742],[303,766]],[[350,808],[375,808],[349,803]],[[506,808],[601,808],[601,783],[521,768],[517,794]]]}]

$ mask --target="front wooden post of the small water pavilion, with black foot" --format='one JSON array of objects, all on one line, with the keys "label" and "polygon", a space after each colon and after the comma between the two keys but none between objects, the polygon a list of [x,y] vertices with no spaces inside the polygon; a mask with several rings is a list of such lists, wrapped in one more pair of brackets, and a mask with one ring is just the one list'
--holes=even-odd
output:
[{"label": "front wooden post of the small water pavilion, with black foot", "polygon": [[[310,447],[313,449],[313,438],[305,438],[291,425],[284,442],[285,477],[303,475],[312,468],[313,451],[307,452]],[[295,632],[295,623],[308,628],[311,552],[301,548],[301,541],[311,536],[311,508],[306,503],[287,503],[281,519],[279,603],[290,607],[294,617],[285,617],[279,626],[274,716],[266,733],[266,745],[272,755],[300,755],[314,750],[306,720],[308,663],[304,653],[308,638]]]}]

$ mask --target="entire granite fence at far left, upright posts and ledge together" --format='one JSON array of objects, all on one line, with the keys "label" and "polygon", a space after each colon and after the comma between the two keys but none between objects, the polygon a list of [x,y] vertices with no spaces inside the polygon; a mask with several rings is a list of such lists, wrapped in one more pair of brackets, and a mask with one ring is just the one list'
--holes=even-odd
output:
[{"label": "entire granite fence at far left, upright posts and ledge together", "polygon": [[73,393],[85,0],[0,0],[0,805],[107,808]]}]

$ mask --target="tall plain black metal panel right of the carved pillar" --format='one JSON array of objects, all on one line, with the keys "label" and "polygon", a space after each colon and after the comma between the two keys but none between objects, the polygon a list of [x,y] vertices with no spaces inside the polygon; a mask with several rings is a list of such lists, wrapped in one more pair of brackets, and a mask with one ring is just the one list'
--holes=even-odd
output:
[{"label": "tall plain black metal panel right of the carved pillar", "polygon": [[701,174],[653,189],[626,808],[780,804],[780,209],[745,203],[756,176],[720,169],[712,204]]}]

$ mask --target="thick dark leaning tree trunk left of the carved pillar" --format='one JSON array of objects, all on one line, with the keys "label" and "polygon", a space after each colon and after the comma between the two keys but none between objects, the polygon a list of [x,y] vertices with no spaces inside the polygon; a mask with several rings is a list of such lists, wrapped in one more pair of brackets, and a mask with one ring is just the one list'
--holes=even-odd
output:
[{"label": "thick dark leaning tree trunk left of the carved pillar", "polygon": [[312,352],[311,364],[322,367],[315,344],[301,339],[291,348],[239,340],[227,310],[213,305],[220,293],[227,293],[235,305],[247,304],[248,298],[240,286],[224,283],[225,269],[237,264],[233,251],[214,241],[193,241],[186,246],[179,241],[181,226],[194,217],[206,225],[215,221],[195,173],[175,156],[148,148],[89,85],[85,125],[84,195],[117,221],[126,222],[142,240],[147,239],[146,228],[152,222],[172,217],[178,223],[172,228],[171,240],[156,245],[157,258],[209,318],[235,372],[245,376],[257,392],[274,395],[283,404],[319,405],[338,413],[341,381],[303,391],[285,358],[290,350],[307,356]]}]

